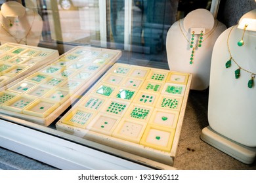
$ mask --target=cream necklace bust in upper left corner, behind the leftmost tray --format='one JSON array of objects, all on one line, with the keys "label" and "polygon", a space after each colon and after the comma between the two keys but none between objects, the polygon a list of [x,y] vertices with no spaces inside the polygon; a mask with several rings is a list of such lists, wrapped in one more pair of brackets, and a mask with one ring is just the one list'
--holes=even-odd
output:
[{"label": "cream necklace bust in upper left corner, behind the leftmost tray", "polygon": [[0,41],[37,46],[43,29],[41,16],[16,1],[3,3],[0,13]]}]

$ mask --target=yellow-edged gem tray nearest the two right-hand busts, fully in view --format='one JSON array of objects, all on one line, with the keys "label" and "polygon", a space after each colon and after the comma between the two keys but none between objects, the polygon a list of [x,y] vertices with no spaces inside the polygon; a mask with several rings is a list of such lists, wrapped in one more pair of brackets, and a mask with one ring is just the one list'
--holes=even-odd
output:
[{"label": "yellow-edged gem tray nearest the two right-hand busts, fully in view", "polygon": [[56,129],[173,165],[191,79],[188,73],[116,63]]}]

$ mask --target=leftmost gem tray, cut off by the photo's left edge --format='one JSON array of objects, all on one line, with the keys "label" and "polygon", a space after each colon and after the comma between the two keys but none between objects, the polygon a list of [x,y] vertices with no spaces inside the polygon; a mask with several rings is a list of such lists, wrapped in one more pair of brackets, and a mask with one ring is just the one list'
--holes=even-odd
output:
[{"label": "leftmost gem tray, cut off by the photo's left edge", "polygon": [[57,50],[5,43],[0,46],[0,88],[58,58]]}]

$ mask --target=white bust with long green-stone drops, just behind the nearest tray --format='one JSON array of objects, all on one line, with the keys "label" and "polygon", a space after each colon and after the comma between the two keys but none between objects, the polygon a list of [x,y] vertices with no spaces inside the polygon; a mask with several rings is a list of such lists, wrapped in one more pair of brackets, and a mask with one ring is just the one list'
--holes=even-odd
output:
[{"label": "white bust with long green-stone drops, just behind the nearest tray", "polygon": [[[225,29],[226,26],[205,9],[190,12],[184,19],[175,22],[170,27],[166,41],[169,69],[192,73],[190,86],[192,90],[205,90],[209,87],[212,49],[216,39]],[[196,45],[200,30],[204,31],[202,47],[196,48],[193,63],[190,64],[191,32],[195,31],[194,45]]]}]

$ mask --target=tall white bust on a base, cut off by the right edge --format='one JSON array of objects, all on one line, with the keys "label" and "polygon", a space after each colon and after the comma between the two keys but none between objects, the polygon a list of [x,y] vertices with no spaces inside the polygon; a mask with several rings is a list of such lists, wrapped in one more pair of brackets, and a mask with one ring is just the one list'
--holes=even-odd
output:
[{"label": "tall white bust on a base, cut off by the right edge", "polygon": [[[244,27],[247,24],[244,33]],[[238,46],[244,33],[244,46]],[[246,164],[256,158],[256,85],[247,86],[256,73],[256,9],[238,25],[228,28],[217,39],[211,60],[209,83],[209,126],[201,139]],[[231,58],[232,65],[225,67]],[[234,71],[240,67],[240,77]]]}]

